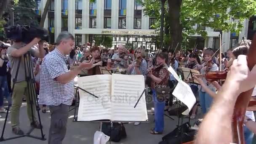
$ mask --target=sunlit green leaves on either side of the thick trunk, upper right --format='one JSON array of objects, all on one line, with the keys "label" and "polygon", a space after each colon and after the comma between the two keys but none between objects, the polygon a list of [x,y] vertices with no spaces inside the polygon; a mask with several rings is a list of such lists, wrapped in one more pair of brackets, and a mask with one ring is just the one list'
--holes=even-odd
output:
[{"label": "sunlit green leaves on either side of the thick trunk, upper right", "polygon": [[[140,2],[147,16],[157,18],[154,27],[160,28],[160,0],[144,0],[143,2],[140,0]],[[168,4],[168,0],[165,4]],[[166,5],[165,10],[168,11]],[[206,37],[207,32],[201,27],[240,32],[243,28],[243,21],[256,14],[256,0],[182,0],[181,11],[178,12],[181,18],[177,23],[182,25],[183,39],[194,34]],[[165,23],[168,22],[165,20]],[[201,27],[194,29],[196,24],[200,24]],[[168,37],[170,36],[165,35],[165,39]]]}]

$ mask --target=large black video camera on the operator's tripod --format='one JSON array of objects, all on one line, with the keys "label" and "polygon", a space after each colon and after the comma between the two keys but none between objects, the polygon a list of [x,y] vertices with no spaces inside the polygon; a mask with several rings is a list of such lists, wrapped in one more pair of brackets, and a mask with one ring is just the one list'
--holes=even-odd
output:
[{"label": "large black video camera on the operator's tripod", "polygon": [[35,37],[39,37],[41,40],[48,40],[48,30],[32,25],[5,27],[5,34],[11,40],[21,41],[26,44],[30,43]]}]

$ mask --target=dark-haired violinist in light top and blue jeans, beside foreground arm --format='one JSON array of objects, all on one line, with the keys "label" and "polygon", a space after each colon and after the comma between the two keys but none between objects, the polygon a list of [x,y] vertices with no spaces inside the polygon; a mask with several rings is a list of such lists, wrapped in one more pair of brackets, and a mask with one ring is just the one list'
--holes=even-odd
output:
[{"label": "dark-haired violinist in light top and blue jeans, beside foreground arm", "polygon": [[[204,67],[200,69],[201,74],[205,75],[207,72],[218,71],[217,64],[211,61],[213,54],[214,53],[211,49],[207,49],[204,51],[203,59],[207,63],[204,63],[203,64]],[[205,78],[203,78],[203,81],[207,85],[207,87],[211,89],[211,91],[216,92],[216,88],[211,83],[208,83]],[[200,99],[200,106],[202,107],[202,112],[203,114],[205,114],[208,111],[208,109],[211,107],[213,99],[208,93],[205,92],[204,88],[201,88],[199,91],[199,99]]]}]

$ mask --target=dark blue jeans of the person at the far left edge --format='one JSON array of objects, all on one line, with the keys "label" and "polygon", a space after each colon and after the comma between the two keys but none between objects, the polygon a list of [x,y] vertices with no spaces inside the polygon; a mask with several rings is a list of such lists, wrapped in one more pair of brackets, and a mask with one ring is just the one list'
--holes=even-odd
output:
[{"label": "dark blue jeans of the person at the far left edge", "polygon": [[11,104],[11,96],[7,84],[7,76],[0,76],[0,108],[3,107],[3,96],[8,101],[8,104]]}]

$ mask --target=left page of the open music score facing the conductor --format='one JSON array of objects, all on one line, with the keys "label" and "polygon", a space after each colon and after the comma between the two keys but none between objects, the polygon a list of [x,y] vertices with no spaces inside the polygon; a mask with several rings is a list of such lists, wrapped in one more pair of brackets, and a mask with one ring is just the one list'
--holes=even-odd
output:
[{"label": "left page of the open music score facing the conductor", "polygon": [[93,97],[79,89],[78,121],[111,119],[111,75],[92,75],[78,78],[78,86],[98,96]]}]

